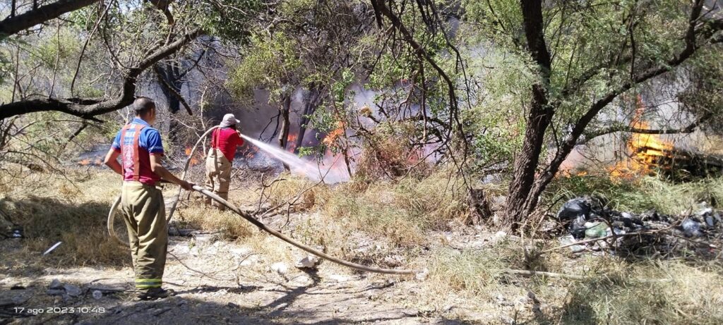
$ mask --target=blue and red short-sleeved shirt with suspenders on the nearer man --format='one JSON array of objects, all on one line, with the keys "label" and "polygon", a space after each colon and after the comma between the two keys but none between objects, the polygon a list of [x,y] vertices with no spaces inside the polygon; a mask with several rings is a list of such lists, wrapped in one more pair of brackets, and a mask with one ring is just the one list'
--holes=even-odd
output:
[{"label": "blue and red short-sleeved shirt with suspenders on the nearer man", "polygon": [[[130,123],[129,129],[126,130],[124,138],[121,139],[123,129],[118,131],[116,138],[113,140],[111,147],[121,154],[121,166],[123,166],[123,180],[133,181],[134,178],[134,162],[137,159],[139,163],[138,181],[146,185],[155,186],[155,182],[161,181],[161,177],[153,173],[150,169],[150,155],[163,155],[163,143],[161,143],[161,134],[158,130],[153,129],[146,121],[140,118],[134,118]],[[138,157],[134,157],[134,126],[140,126],[140,134],[138,134]],[[122,141],[121,141],[122,140]],[[128,149],[123,150],[122,147]]]}]

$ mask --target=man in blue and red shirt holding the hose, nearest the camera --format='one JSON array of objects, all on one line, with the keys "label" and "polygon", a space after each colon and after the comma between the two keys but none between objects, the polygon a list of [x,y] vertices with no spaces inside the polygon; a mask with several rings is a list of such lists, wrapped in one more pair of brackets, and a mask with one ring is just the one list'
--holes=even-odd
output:
[{"label": "man in blue and red shirt holding the hose, nearest the camera", "polygon": [[161,288],[168,246],[166,207],[156,185],[163,179],[190,191],[193,184],[161,165],[161,134],[151,127],[155,122],[153,100],[138,97],[133,109],[135,118],[116,134],[105,163],[123,176],[121,210],[128,228],[137,298],[166,298],[173,293]]}]

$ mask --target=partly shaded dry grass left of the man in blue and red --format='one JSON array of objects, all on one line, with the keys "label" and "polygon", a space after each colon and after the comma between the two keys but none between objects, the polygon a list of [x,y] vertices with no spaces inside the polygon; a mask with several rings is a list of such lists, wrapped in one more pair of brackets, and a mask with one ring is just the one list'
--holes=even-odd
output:
[{"label": "partly shaded dry grass left of the man in blue and red", "polygon": [[[119,178],[101,173],[67,175],[34,173],[17,178],[0,196],[0,209],[23,229],[22,244],[30,256],[40,256],[54,243],[61,246],[43,260],[57,265],[130,263],[128,251],[111,241],[106,217],[119,193]],[[113,184],[113,185],[111,185]]]}]

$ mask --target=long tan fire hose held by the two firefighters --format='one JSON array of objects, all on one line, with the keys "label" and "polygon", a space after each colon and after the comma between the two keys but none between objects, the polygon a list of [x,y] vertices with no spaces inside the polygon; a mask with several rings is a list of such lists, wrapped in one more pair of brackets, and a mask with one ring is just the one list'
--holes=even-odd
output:
[{"label": "long tan fire hose held by the two firefighters", "polygon": [[[218,126],[214,126],[213,128],[209,129],[208,131],[203,134],[200,139],[198,139],[198,142],[194,145],[191,155],[189,155],[188,160],[186,161],[186,166],[184,168],[183,174],[181,175],[181,179],[184,179],[186,177],[186,172],[189,168],[189,162],[191,160],[191,157],[193,157],[193,152],[195,151],[196,147],[198,147],[198,144],[207,136],[210,131],[213,131],[213,129],[218,128]],[[334,256],[330,256],[328,254],[325,254],[322,251],[318,251],[315,248],[311,248],[307,245],[304,245],[304,243],[300,243],[299,241],[294,240],[293,238],[290,238],[286,235],[283,235],[282,233],[279,233],[276,230],[273,230],[269,228],[267,225],[265,225],[263,222],[260,222],[255,217],[252,217],[251,215],[247,214],[244,211],[241,211],[238,207],[234,206],[234,204],[231,204],[231,202],[226,201],[225,199],[222,199],[220,196],[213,194],[213,192],[208,191],[206,188],[203,188],[201,186],[194,185],[193,186],[194,191],[198,191],[201,194],[210,197],[211,199],[214,199],[216,202],[223,204],[223,206],[227,207],[228,209],[231,209],[236,215],[239,215],[246,219],[248,222],[251,222],[252,225],[256,226],[260,230],[265,231],[266,233],[270,233],[276,238],[281,239],[282,241],[286,241],[286,243],[291,244],[292,246],[296,246],[297,248],[300,248],[303,251],[306,251],[309,254],[314,254],[316,256],[319,256],[322,259],[325,259],[327,261],[331,261],[335,264],[340,264],[345,267],[350,267],[352,269],[358,269],[360,271],[365,272],[374,272],[374,273],[382,273],[382,274],[417,274],[419,272],[422,272],[420,270],[414,270],[414,269],[382,269],[378,267],[367,267],[361,264],[352,263],[350,261],[345,261],[343,259],[338,259]],[[171,216],[173,215],[174,209],[176,208],[176,203],[178,202],[178,198],[181,194],[181,188],[179,188],[179,195],[176,196],[176,202],[171,206],[171,212],[168,214],[168,218],[166,222],[171,220]],[[115,229],[114,229],[114,216],[116,209],[118,209],[119,205],[121,203],[121,196],[118,196],[116,198],[115,202],[111,205],[111,211],[108,212],[108,233],[111,235],[112,238],[114,238],[116,241],[121,243],[124,246],[129,246],[129,243],[125,243],[124,241],[121,241],[120,238],[116,235]]]}]

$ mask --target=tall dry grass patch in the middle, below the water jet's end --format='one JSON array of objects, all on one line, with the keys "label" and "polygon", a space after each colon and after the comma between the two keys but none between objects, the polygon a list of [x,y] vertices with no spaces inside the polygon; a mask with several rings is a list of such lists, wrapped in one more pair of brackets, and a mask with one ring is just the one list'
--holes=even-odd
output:
[{"label": "tall dry grass patch in the middle, below the water jet's end", "polygon": [[299,197],[294,209],[320,211],[326,220],[321,225],[336,223],[395,245],[424,243],[425,232],[448,229],[450,222],[461,222],[469,212],[461,182],[445,171],[422,179],[377,181],[364,186],[359,186],[359,181],[329,186],[294,175],[279,178],[284,181],[265,191],[271,206]]}]

